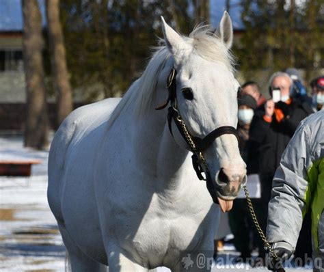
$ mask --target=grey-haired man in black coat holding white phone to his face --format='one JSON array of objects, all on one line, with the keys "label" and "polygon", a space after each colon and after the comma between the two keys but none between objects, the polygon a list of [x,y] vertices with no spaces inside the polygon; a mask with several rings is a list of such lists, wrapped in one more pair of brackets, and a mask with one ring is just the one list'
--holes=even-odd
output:
[{"label": "grey-haired man in black coat holding white phone to his face", "polygon": [[[255,112],[249,130],[247,172],[260,176],[262,213],[259,220],[264,232],[275,169],[299,122],[309,115],[308,109],[290,96],[292,84],[291,77],[284,72],[272,75],[269,80],[271,98]],[[253,161],[257,163],[251,163]],[[249,169],[251,166],[254,169]]]}]

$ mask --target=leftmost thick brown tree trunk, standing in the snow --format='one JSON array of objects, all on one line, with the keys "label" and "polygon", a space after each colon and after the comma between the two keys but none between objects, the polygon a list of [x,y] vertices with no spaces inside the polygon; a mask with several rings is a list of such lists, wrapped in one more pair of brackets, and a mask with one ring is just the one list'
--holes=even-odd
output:
[{"label": "leftmost thick brown tree trunk, standing in the snow", "polygon": [[42,16],[37,0],[23,0],[23,54],[27,94],[24,144],[42,149],[48,144],[48,116],[42,66]]}]

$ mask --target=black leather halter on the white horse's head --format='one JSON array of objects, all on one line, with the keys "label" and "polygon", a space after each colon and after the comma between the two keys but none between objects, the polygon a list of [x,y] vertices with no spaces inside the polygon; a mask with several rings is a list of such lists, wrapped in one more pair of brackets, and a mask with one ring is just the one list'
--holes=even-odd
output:
[{"label": "black leather halter on the white horse's head", "polygon": [[[206,135],[203,139],[200,137],[193,137],[190,135],[191,140],[193,141],[195,145],[195,150],[191,148],[191,144],[189,143],[189,139],[187,139],[185,135],[185,131],[183,130],[183,127],[181,126],[181,122],[184,123],[184,121],[181,118],[180,112],[178,110],[178,103],[176,100],[176,70],[172,68],[170,71],[169,76],[167,77],[167,90],[169,92],[169,97],[167,98],[167,101],[165,104],[163,104],[161,107],[157,107],[157,110],[165,109],[167,105],[170,103],[170,107],[168,108],[167,112],[167,123],[169,126],[170,133],[173,136],[172,133],[172,120],[174,120],[174,123],[176,124],[178,131],[183,136],[183,139],[187,142],[189,148],[191,149],[191,152],[193,152],[193,155],[191,157],[192,163],[193,163],[193,169],[195,169],[195,173],[197,174],[198,178],[200,180],[206,180],[206,185],[209,193],[211,194],[211,197],[213,198],[213,202],[218,204],[217,195],[216,195],[216,185],[215,182],[213,182],[211,178],[211,174],[209,173],[208,167],[204,166],[200,159],[200,153],[206,150],[208,146],[211,146],[213,141],[221,135],[224,134],[233,134],[237,138],[239,137],[237,134],[237,129],[233,126],[219,126],[219,128],[216,128],[214,131]],[[202,173],[206,175],[206,178],[202,176]]]}]

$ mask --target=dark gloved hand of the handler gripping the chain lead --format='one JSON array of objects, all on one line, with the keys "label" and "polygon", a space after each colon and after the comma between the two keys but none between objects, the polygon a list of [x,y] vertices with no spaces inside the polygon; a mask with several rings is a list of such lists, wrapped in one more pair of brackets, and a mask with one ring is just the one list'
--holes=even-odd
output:
[{"label": "dark gloved hand of the handler gripping the chain lead", "polygon": [[275,251],[275,254],[277,254],[278,260],[275,260],[275,258],[273,258],[271,254],[268,253],[266,256],[267,267],[269,270],[278,271],[282,267],[283,262],[288,258],[291,258],[294,250],[289,243],[286,243],[284,241],[273,243],[271,245],[271,248],[273,249],[273,251]]}]

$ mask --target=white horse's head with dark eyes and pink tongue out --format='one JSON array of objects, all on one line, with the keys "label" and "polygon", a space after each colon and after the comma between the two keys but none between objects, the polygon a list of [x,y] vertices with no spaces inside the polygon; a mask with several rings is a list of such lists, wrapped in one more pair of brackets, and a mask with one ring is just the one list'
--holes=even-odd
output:
[{"label": "white horse's head with dark eyes and pink tongue out", "polygon": [[[246,180],[246,165],[234,133],[239,83],[234,78],[230,53],[233,36],[230,16],[224,12],[215,33],[198,27],[186,38],[176,33],[163,18],[162,29],[165,44],[173,57],[174,70],[168,82],[171,110],[176,112],[176,118],[180,116],[183,120],[196,146],[198,139],[208,135],[208,143],[206,139],[203,143],[200,141],[202,146],[197,148],[197,154],[201,151],[208,165],[212,185],[207,187],[212,197],[215,194],[217,198],[213,197],[214,202],[218,202],[223,211],[228,211]],[[176,118],[170,121],[174,139],[179,146],[192,151],[188,139],[184,141],[186,133],[181,131]],[[226,129],[221,132],[223,127],[227,132]]]}]

